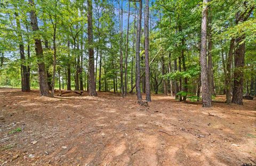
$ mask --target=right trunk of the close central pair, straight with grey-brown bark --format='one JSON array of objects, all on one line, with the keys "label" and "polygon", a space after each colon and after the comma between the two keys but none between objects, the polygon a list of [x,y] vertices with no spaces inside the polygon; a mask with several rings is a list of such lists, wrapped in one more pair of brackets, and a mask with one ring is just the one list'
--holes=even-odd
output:
[{"label": "right trunk of the close central pair, straight with grey-brown bark", "polygon": [[151,101],[150,97],[150,67],[149,67],[149,0],[146,0],[145,7],[145,81],[146,81],[146,101]]}]

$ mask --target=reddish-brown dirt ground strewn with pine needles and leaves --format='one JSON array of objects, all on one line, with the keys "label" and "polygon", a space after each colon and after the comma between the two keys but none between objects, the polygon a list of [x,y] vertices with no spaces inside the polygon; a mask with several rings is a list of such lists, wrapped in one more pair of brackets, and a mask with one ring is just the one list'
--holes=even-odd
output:
[{"label": "reddish-brown dirt ground strewn with pine needles and leaves", "polygon": [[[145,97],[143,97],[145,98]],[[0,165],[256,164],[256,100],[212,108],[153,95],[0,89]]]}]

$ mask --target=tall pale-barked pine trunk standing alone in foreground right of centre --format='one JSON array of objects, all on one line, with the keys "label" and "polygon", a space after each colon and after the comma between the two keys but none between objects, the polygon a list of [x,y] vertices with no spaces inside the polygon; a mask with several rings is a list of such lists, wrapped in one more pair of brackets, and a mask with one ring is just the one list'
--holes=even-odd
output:
[{"label": "tall pale-barked pine trunk standing alone in foreground right of centre", "polygon": [[207,0],[203,0],[200,64],[203,107],[212,107],[207,72]]}]

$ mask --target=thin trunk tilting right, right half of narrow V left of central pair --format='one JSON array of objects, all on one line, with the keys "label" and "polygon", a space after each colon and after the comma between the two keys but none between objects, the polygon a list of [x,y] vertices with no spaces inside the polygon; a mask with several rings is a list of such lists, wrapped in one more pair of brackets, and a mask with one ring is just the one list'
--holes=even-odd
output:
[{"label": "thin trunk tilting right, right half of narrow V left of central pair", "polygon": [[125,63],[124,63],[124,95],[127,94],[127,58],[128,58],[128,47],[129,47],[129,20],[130,20],[130,1],[129,1],[129,11],[128,11],[128,24],[127,24],[127,34],[126,34],[126,49],[125,49]]}]

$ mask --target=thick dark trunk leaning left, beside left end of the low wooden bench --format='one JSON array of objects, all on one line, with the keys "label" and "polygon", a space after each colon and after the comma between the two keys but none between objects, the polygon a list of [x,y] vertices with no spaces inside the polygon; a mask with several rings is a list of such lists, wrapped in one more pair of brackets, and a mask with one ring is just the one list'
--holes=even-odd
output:
[{"label": "thick dark trunk leaning left, beside left end of the low wooden bench", "polygon": [[[28,2],[32,6],[32,8],[35,8],[34,0],[29,0]],[[39,28],[37,24],[37,17],[36,17],[36,12],[34,10],[30,11],[30,21],[31,21],[32,30],[34,32],[38,31]],[[39,90],[41,95],[47,96],[49,95],[49,88],[47,85],[47,75],[45,72],[42,42],[35,35],[34,35],[34,40],[35,40],[35,51],[36,51],[37,65],[38,65]]]}]

